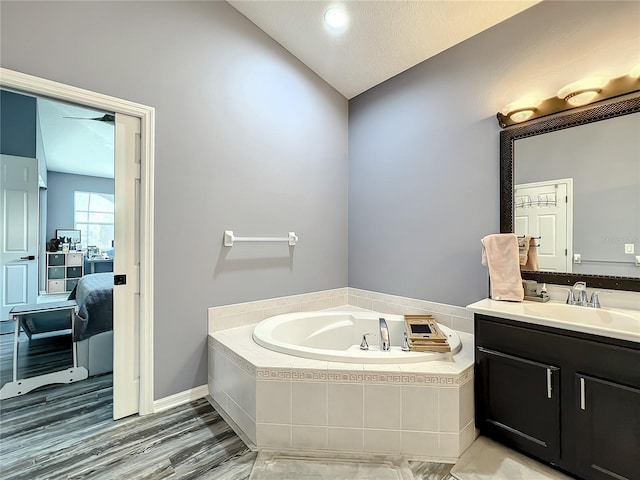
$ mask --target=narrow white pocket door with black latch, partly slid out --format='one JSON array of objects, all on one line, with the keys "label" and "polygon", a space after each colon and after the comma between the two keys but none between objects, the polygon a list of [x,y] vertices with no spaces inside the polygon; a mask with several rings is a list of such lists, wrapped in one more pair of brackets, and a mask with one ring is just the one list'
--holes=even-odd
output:
[{"label": "narrow white pocket door with black latch, partly slid out", "polygon": [[[140,401],[140,119],[116,114],[113,418]],[[118,278],[126,283],[118,285]]]}]

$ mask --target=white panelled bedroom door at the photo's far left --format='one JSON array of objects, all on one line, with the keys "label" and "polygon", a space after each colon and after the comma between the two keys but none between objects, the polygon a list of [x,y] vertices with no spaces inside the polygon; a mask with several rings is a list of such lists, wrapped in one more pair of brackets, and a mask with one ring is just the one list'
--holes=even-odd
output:
[{"label": "white panelled bedroom door at the photo's far left", "polygon": [[38,160],[0,155],[2,315],[38,297]]}]

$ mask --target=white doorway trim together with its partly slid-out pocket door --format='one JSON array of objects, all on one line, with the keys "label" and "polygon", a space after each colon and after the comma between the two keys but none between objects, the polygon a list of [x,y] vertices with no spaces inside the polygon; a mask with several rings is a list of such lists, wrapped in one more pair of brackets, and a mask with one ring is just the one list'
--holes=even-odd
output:
[{"label": "white doorway trim together with its partly slid-out pocket door", "polygon": [[[151,107],[0,69],[3,88],[115,112],[114,418],[153,412],[153,119]],[[129,161],[126,161],[126,159]],[[118,201],[121,198],[122,201]],[[127,202],[127,198],[130,199]],[[138,209],[126,209],[138,199]],[[137,319],[137,321],[132,321]]]}]

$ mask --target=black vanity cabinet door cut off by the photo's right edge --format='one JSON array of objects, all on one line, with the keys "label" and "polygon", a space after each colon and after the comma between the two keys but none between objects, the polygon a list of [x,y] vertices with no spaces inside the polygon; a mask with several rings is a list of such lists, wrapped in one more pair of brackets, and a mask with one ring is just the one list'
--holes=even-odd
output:
[{"label": "black vanity cabinet door cut off by the photo's right edge", "polygon": [[640,478],[640,390],[576,374],[576,449],[581,476]]}]

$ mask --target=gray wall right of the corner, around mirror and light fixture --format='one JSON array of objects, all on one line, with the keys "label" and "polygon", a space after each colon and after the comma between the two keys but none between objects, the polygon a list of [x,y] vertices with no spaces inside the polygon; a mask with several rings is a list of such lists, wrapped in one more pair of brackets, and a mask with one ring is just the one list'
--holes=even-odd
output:
[{"label": "gray wall right of the corner, around mirror and light fixture", "polygon": [[487,295],[480,238],[499,231],[499,127],[640,58],[640,3],[543,2],[349,104],[349,286],[467,305]]}]

